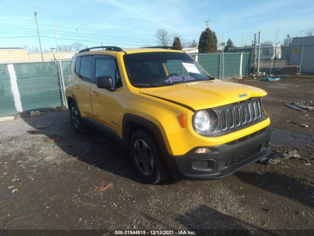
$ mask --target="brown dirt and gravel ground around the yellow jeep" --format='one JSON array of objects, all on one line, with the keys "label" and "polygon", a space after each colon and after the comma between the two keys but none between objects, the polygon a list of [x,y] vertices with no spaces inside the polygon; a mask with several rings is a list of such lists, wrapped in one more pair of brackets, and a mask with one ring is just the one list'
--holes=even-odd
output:
[{"label": "brown dirt and gravel ground around the yellow jeep", "polygon": [[[291,235],[314,234],[314,111],[285,106],[313,101],[314,79],[237,82],[268,92],[262,106],[272,119],[273,151],[297,148],[304,159],[254,163],[218,180],[169,178],[147,185],[134,175],[121,146],[94,130],[75,133],[68,111],[35,118],[26,114],[0,123],[0,229],[185,229],[198,235],[209,235],[209,229],[282,235],[291,232],[279,230],[292,229],[310,231]],[[113,187],[95,192],[102,181]]]}]

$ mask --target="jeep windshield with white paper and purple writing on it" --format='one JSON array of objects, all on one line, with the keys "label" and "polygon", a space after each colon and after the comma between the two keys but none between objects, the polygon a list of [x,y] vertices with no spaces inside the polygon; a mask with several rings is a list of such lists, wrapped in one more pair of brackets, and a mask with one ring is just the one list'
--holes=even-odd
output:
[{"label": "jeep windshield with white paper and purple writing on it", "polygon": [[209,80],[205,71],[185,53],[134,53],[124,55],[123,59],[134,87],[159,87]]}]

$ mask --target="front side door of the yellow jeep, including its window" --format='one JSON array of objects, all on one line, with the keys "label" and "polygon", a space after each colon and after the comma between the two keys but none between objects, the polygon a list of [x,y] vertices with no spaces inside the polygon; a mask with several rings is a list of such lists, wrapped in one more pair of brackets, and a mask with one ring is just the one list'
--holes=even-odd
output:
[{"label": "front side door of the yellow jeep, including its window", "polygon": [[99,89],[96,84],[91,87],[91,104],[94,118],[106,127],[119,132],[121,125],[122,82],[116,58],[95,56],[95,79],[99,76],[110,76],[115,90]]}]

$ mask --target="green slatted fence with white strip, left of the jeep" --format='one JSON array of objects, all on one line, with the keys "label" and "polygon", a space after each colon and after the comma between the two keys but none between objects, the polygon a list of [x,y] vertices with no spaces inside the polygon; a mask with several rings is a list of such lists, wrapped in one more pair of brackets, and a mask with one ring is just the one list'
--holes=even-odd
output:
[{"label": "green slatted fence with white strip, left of the jeep", "polygon": [[[71,63],[61,61],[65,86]],[[58,61],[0,64],[0,117],[62,105],[60,78]]]}]

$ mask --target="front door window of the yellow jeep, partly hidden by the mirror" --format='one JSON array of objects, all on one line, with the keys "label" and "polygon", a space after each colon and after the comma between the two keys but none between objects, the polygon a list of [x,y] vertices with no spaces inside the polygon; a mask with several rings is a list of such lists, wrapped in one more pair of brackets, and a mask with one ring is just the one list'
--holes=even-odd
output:
[{"label": "front door window of the yellow jeep, partly hidden by the mirror", "polygon": [[99,76],[110,76],[113,80],[113,87],[115,88],[122,85],[119,71],[114,59],[96,59],[95,78]]}]

